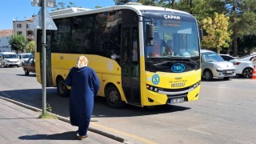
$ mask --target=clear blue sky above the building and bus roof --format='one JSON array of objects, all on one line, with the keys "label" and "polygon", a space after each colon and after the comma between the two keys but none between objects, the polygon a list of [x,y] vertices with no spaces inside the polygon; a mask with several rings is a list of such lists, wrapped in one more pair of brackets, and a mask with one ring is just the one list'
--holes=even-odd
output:
[{"label": "clear blue sky above the building and bus roof", "polygon": [[[94,9],[95,6],[114,6],[113,0],[56,0],[66,3],[74,2],[75,6],[82,8]],[[31,18],[33,14],[38,14],[41,7],[32,6],[31,0],[0,0],[0,30],[12,30],[13,20],[24,21],[26,18]],[[52,8],[46,8],[48,12]]]}]

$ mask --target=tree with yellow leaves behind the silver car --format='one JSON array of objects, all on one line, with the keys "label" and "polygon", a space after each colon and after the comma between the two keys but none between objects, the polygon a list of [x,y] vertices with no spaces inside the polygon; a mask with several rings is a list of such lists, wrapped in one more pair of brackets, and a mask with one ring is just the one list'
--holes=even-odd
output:
[{"label": "tree with yellow leaves behind the silver car", "polygon": [[202,46],[206,48],[214,48],[220,53],[222,47],[228,47],[230,42],[231,31],[228,30],[229,17],[224,14],[214,13],[213,18],[205,18],[202,20],[202,28],[206,30],[206,36],[202,41]]}]

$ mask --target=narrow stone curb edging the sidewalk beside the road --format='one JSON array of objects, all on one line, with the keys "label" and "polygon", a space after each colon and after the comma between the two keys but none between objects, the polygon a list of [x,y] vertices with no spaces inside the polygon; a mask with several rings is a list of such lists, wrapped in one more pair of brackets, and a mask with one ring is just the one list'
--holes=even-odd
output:
[{"label": "narrow stone curb edging the sidewalk beside the road", "polygon": [[[26,105],[25,103],[17,102],[17,101],[14,101],[13,99],[5,98],[5,97],[2,97],[2,96],[0,96],[0,98],[2,98],[3,100],[6,100],[6,101],[8,101],[8,102],[12,102],[12,103],[14,103],[14,104],[16,104],[16,105],[18,105],[18,106],[25,107],[25,108],[27,108],[27,109],[30,109],[30,110],[33,110],[33,111],[36,111],[36,112],[42,112],[41,109],[38,109],[38,108],[36,108],[36,107],[34,107],[34,106],[29,106],[29,105]],[[47,112],[47,113],[53,114],[53,113],[50,113],[50,112]],[[53,115],[56,116],[56,117],[58,118],[58,120],[61,120],[62,122],[68,122],[68,123],[70,123],[69,118],[62,117],[62,116],[60,116],[60,115],[58,115],[58,114],[53,114]],[[114,140],[116,140],[116,141],[118,141],[118,142],[125,143],[125,139],[124,139],[124,138],[120,138],[120,137],[115,136],[115,135],[113,135],[113,134],[108,134],[108,133],[106,133],[106,132],[103,132],[103,131],[101,131],[101,130],[96,130],[96,129],[91,128],[91,127],[89,127],[88,130],[91,131],[91,132],[94,132],[94,133],[96,133],[96,134],[101,134],[101,135],[103,135],[103,136],[105,136],[105,137],[107,137],[107,138],[114,139]]]}]

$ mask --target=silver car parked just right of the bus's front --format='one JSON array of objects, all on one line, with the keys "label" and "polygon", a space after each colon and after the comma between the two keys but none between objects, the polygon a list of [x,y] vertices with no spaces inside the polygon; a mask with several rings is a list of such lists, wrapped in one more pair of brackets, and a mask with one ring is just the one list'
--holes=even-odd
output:
[{"label": "silver car parked just right of the bus's front", "polygon": [[213,78],[226,80],[235,76],[235,68],[232,62],[226,62],[214,51],[200,50],[202,56],[202,78],[207,81]]}]

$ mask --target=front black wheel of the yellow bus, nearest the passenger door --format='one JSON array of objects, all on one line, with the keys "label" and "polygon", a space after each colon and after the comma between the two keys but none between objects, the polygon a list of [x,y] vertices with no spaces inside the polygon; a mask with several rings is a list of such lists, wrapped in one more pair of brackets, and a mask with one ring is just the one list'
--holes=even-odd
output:
[{"label": "front black wheel of the yellow bus, nearest the passenger door", "polygon": [[115,109],[120,109],[125,105],[125,102],[122,101],[119,90],[116,86],[108,86],[106,88],[106,102],[110,107]]}]

